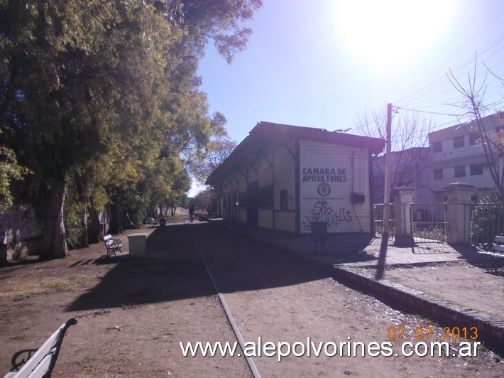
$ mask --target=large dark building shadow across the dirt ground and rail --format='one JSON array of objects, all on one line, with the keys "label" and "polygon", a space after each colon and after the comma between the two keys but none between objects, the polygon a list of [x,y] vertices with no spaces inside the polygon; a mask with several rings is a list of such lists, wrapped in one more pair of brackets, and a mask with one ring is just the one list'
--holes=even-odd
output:
[{"label": "large dark building shadow across the dirt ground and rail", "polygon": [[118,308],[214,295],[216,291],[192,234],[211,271],[219,277],[222,292],[288,286],[328,276],[310,261],[280,253],[221,227],[207,223],[169,225],[150,234],[146,257],[124,255],[93,261],[112,267],[99,284],[66,310]]}]

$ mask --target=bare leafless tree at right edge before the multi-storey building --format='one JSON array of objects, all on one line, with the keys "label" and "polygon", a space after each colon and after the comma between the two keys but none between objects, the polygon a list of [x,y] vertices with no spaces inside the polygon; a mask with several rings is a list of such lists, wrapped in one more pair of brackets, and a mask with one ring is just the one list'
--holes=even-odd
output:
[{"label": "bare leafless tree at right edge before the multi-storey building", "polygon": [[[476,81],[476,62],[477,60],[475,58],[474,70],[472,75],[471,73],[468,74],[466,86],[456,79],[451,70],[449,70],[448,78],[454,88],[464,97],[464,102],[458,106],[466,111],[464,115],[471,119],[473,124],[476,125],[475,131],[479,135],[478,144],[485,154],[488,171],[490,172],[493,183],[495,183],[495,188],[500,193],[501,198],[504,199],[504,164],[502,163],[502,157],[504,155],[504,133],[500,131],[498,134],[493,134],[488,132],[486,128],[485,114],[488,112],[488,108],[483,99],[486,92],[487,75],[485,75],[481,81],[481,85],[478,85]],[[488,72],[491,71],[488,70]],[[498,79],[504,86],[504,80],[500,77],[498,77]],[[499,163],[499,161],[501,161],[501,163]]]}]

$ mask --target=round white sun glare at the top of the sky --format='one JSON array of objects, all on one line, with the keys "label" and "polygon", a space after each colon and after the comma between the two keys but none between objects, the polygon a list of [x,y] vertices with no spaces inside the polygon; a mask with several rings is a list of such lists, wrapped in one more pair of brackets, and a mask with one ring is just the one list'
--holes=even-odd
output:
[{"label": "round white sun glare at the top of the sky", "polygon": [[370,65],[407,65],[429,48],[451,17],[454,0],[341,0],[338,37]]}]

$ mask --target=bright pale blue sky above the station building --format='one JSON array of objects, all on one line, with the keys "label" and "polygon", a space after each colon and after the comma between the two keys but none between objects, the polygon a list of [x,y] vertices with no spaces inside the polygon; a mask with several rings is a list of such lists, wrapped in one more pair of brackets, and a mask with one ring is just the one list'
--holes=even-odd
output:
[{"label": "bright pale blue sky above the station building", "polygon": [[467,86],[476,67],[488,114],[504,109],[502,0],[263,2],[246,50],[229,65],[208,45],[199,66],[210,114],[238,143],[258,121],[347,129],[388,103],[454,126],[468,119],[450,70]]}]

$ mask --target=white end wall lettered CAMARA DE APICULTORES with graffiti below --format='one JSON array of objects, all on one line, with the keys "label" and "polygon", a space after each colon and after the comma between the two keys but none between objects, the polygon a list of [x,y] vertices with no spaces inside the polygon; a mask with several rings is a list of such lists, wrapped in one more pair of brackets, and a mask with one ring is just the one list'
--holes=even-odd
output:
[{"label": "white end wall lettered CAMARA DE APICULTORES with graffiti below", "polygon": [[300,141],[301,232],[314,221],[328,232],[371,232],[366,148]]}]

